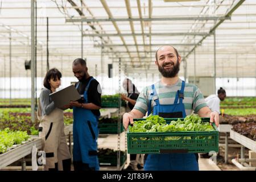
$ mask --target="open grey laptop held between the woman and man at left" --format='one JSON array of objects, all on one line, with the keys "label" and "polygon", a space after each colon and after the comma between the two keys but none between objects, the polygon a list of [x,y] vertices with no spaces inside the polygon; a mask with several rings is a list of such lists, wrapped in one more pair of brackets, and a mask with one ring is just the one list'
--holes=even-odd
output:
[{"label": "open grey laptop held between the woman and man at left", "polygon": [[49,94],[49,97],[54,101],[55,107],[62,108],[65,105],[68,105],[70,101],[80,100],[81,96],[77,92],[74,85],[70,85],[64,89],[61,89],[57,92]]}]

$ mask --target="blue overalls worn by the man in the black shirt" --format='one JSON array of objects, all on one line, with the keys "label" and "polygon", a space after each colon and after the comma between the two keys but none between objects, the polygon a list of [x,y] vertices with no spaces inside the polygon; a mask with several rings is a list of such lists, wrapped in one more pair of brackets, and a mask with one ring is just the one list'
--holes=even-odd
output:
[{"label": "blue overalls worn by the man in the black shirt", "polygon": [[[84,92],[84,103],[88,103],[88,88],[92,77]],[[76,88],[78,88],[77,84]],[[97,157],[98,118],[89,109],[73,107],[73,163],[86,164],[92,170],[99,170]]]}]

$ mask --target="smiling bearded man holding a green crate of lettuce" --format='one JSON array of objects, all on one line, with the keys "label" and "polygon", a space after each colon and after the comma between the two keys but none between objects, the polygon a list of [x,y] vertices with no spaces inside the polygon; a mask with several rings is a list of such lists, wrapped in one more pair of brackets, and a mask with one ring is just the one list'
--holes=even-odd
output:
[{"label": "smiling bearded man holding a green crate of lettuce", "polygon": [[[129,113],[123,114],[123,127],[127,130],[134,118],[146,113],[163,118],[185,118],[195,111],[200,117],[210,117],[218,126],[219,115],[210,111],[200,89],[187,84],[178,77],[181,57],[173,46],[162,46],[155,53],[155,65],[162,78],[147,86],[139,94],[136,104]],[[199,171],[198,154],[170,153],[144,155],[146,171]]]}]

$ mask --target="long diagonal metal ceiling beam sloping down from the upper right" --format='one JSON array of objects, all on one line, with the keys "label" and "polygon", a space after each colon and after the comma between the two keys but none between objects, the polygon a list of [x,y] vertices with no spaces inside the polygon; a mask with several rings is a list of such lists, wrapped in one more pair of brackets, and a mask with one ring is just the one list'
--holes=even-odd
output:
[{"label": "long diagonal metal ceiling beam sloping down from the upper right", "polygon": [[[233,13],[239,6],[242,5],[243,2],[245,2],[245,0],[240,0],[239,2],[237,2],[236,5],[234,5],[234,6],[228,11],[228,13],[226,13],[225,16],[226,16],[226,17],[230,17],[230,16],[232,15],[232,13]],[[219,20],[212,28],[210,28],[209,34],[212,34],[212,33],[216,30],[216,28],[217,28],[218,26],[220,26],[220,24],[223,23],[223,22],[224,22],[224,20]],[[191,51],[189,51],[189,52],[187,53],[187,55],[184,57],[184,59],[187,59],[188,56],[196,49],[196,47],[199,46],[199,45],[204,41],[204,39],[206,39],[208,36],[209,36],[209,35],[205,35],[205,36],[196,44],[196,46],[194,46],[194,47],[191,49]]]}]

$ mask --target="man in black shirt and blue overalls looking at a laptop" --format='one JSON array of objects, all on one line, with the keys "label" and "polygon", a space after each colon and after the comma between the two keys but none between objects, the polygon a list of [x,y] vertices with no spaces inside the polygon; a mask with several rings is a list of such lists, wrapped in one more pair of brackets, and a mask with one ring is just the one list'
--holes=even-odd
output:
[{"label": "man in black shirt and blue overalls looking at a laptop", "polygon": [[75,59],[73,73],[79,80],[75,87],[83,100],[70,102],[73,107],[73,165],[75,171],[98,171],[98,119],[101,109],[101,87],[89,75],[84,59]]}]

